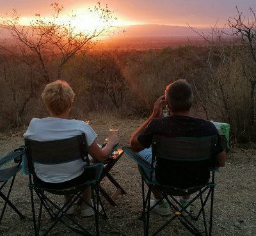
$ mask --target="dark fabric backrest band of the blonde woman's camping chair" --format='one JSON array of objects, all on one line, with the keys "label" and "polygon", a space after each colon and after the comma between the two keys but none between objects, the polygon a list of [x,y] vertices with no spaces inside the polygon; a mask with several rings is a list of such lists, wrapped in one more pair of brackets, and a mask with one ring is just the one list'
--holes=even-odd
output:
[{"label": "dark fabric backrest band of the blonde woman's camping chair", "polygon": [[68,163],[81,158],[88,161],[88,145],[85,135],[46,142],[25,138],[25,147],[28,168],[31,173],[34,172],[32,163],[52,165]]}]

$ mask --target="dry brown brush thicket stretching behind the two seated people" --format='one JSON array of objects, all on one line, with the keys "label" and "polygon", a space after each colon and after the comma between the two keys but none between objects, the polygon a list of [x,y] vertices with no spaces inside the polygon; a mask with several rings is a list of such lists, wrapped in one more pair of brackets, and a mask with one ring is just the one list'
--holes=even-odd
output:
[{"label": "dry brown brush thicket stretching behind the two seated people", "polygon": [[[200,57],[208,55],[205,47],[192,49]],[[185,77],[195,93],[193,115],[230,123],[231,136],[237,142],[256,140],[250,108],[254,102],[250,82],[254,64],[237,47],[225,48],[225,63],[220,52],[218,48],[214,51],[211,71],[198,62],[189,47],[77,55],[66,64],[62,77],[76,93],[70,116],[90,119],[92,112],[147,116],[166,85]],[[40,100],[45,86],[43,78],[20,61],[7,59],[8,73],[0,69],[2,130],[28,124],[32,117],[48,115]],[[3,68],[3,61],[0,63]],[[113,94],[115,102],[111,99]]]}]

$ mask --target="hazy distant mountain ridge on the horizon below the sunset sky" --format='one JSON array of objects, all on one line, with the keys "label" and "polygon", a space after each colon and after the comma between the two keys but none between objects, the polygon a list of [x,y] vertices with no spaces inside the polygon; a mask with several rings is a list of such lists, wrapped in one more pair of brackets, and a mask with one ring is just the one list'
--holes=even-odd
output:
[{"label": "hazy distant mountain ridge on the horizon below the sunset sky", "polygon": [[[198,34],[207,36],[211,29],[193,28]],[[191,28],[184,26],[166,25],[134,25],[121,26],[118,31],[101,38],[94,48],[96,49],[141,49],[179,47],[179,45],[202,45],[204,39]],[[8,31],[0,31],[0,43],[12,43],[12,35]]]}]

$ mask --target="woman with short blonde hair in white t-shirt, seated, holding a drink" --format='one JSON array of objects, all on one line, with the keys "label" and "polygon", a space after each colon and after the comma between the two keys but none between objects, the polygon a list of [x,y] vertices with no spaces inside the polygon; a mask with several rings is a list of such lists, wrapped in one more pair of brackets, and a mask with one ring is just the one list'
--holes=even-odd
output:
[{"label": "woman with short blonde hair in white t-shirt, seated, holding a drink", "polygon": [[[72,102],[74,101],[74,92],[70,85],[63,80],[56,80],[45,86],[42,93],[42,100],[45,107],[49,110],[50,117],[42,119],[33,118],[29,124],[28,130],[24,133],[25,138],[36,141],[54,141],[65,138],[72,138],[76,135],[84,134],[89,147],[89,154],[95,161],[102,162],[109,157],[113,147],[118,144],[118,137],[112,135],[109,142],[104,148],[100,148],[96,142],[97,134],[84,121],[76,119],[68,119]],[[68,163],[51,165],[51,169],[47,165],[35,163],[35,172],[38,181],[48,188],[63,188],[74,184],[83,183],[91,173],[84,171],[84,162],[77,159]],[[69,195],[64,196],[64,201],[70,198]],[[91,203],[91,189],[86,188],[83,193],[85,202]],[[100,206],[99,206],[100,209]],[[68,214],[73,214],[74,208],[68,209]],[[81,214],[83,216],[92,216],[93,209],[86,203],[81,205]]]}]

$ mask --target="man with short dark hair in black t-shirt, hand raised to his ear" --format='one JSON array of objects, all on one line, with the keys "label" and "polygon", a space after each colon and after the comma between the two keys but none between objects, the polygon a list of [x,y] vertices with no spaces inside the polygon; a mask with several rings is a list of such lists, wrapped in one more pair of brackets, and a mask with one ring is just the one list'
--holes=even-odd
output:
[{"label": "man with short dark hair in black t-shirt, hand raised to his ear", "polygon": [[[170,109],[170,116],[162,117],[163,104],[167,103]],[[197,119],[191,117],[190,109],[193,104],[193,91],[191,85],[186,80],[176,80],[166,87],[165,95],[160,96],[154,104],[153,112],[150,117],[145,121],[131,136],[130,147],[136,151],[146,161],[151,163],[152,152],[150,145],[154,135],[179,137],[179,136],[210,136],[218,135],[218,131],[214,124],[210,121]],[[218,147],[216,148],[216,159],[214,165],[224,166],[226,154],[221,146],[220,135],[218,135]],[[196,170],[196,166],[182,166],[184,172],[175,172],[175,166],[172,165],[170,170],[169,160],[162,159],[164,171],[157,174],[161,179],[162,184],[172,185],[179,180],[181,186],[199,186],[206,184],[209,181],[209,172],[204,170]],[[194,168],[195,167],[195,168]],[[177,168],[178,169],[178,168]],[[156,189],[152,189],[155,200],[151,200],[150,205],[154,205],[161,195]],[[189,195],[180,196],[179,200],[181,205],[186,205],[189,202]],[[189,205],[190,207],[190,205]],[[189,207],[186,209],[189,211]],[[166,200],[159,203],[154,210],[157,214],[166,215],[170,214],[170,208]],[[182,212],[186,214],[186,212]]]}]

